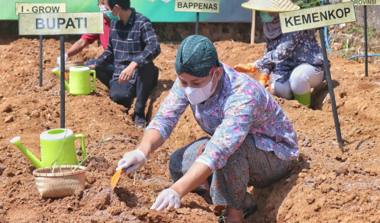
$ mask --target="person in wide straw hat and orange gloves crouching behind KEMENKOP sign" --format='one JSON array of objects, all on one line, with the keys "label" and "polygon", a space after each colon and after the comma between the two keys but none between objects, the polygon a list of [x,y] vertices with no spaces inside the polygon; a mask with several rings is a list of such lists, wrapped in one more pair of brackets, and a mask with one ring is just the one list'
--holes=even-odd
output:
[{"label": "person in wide straw hat and orange gloves crouching behind KEMENKOP sign", "polygon": [[[261,71],[259,82],[266,86],[271,79],[270,89],[276,96],[293,97],[301,104],[310,106],[311,88],[324,79],[321,47],[314,30],[282,33],[279,13],[299,9],[289,0],[251,0],[242,7],[260,11],[267,47],[259,60],[238,64],[233,68],[239,72]],[[271,78],[270,74],[273,72]]]}]

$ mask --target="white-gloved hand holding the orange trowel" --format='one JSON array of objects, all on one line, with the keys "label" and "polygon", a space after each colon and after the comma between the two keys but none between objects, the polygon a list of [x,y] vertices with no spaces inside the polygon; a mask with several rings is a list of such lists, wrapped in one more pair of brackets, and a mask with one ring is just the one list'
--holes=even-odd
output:
[{"label": "white-gloved hand holding the orange trowel", "polygon": [[146,161],[147,159],[141,150],[134,150],[124,154],[123,158],[118,163],[116,171],[128,167],[128,170],[125,170],[125,172],[132,173],[144,166]]}]

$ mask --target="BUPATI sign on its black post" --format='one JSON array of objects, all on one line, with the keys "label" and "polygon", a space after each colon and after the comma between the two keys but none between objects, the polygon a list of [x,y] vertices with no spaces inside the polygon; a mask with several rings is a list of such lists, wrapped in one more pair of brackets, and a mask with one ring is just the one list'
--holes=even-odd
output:
[{"label": "BUPATI sign on its black post", "polygon": [[[20,35],[60,35],[61,128],[65,128],[65,34],[103,33],[103,13],[26,13],[18,15]],[[41,53],[40,53],[41,54]],[[41,59],[40,59],[41,61]]]}]

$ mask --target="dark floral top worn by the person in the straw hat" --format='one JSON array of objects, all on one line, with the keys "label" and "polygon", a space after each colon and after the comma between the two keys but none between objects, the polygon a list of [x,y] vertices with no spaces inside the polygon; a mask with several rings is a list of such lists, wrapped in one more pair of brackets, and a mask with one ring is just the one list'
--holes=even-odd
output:
[{"label": "dark floral top worn by the person in the straw hat", "polygon": [[264,56],[256,61],[261,73],[271,76],[271,83],[285,83],[293,69],[301,63],[309,63],[315,71],[323,71],[321,47],[312,29],[282,33],[276,39],[267,40]]}]

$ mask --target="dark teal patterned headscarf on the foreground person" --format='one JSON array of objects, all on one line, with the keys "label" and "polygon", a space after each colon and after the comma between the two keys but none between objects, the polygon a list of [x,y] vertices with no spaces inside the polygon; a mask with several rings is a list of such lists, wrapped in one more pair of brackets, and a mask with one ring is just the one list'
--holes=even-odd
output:
[{"label": "dark teal patterned headscarf on the foreground person", "polygon": [[212,67],[220,66],[214,44],[205,36],[191,35],[179,45],[175,59],[175,71],[204,78],[210,75]]}]

